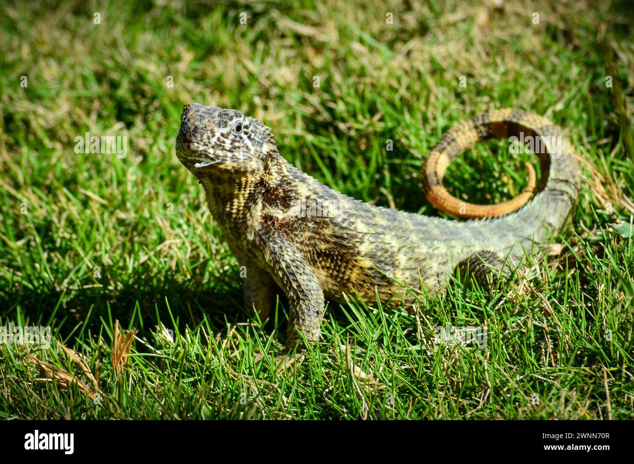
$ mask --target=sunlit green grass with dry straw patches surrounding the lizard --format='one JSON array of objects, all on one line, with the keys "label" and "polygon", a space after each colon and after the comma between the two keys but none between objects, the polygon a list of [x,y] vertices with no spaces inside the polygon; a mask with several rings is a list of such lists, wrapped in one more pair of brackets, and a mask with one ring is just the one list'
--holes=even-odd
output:
[{"label": "sunlit green grass with dry straw patches surrounding the lizard", "polygon": [[[634,167],[613,107],[618,91],[631,121],[631,6],[338,4],[3,3],[0,325],[51,326],[95,382],[57,342],[0,345],[0,418],[634,418]],[[238,263],[174,152],[193,101],[261,119],[347,195],[426,215],[427,151],[487,108],[547,115],[589,164],[560,254],[493,293],[456,281],[417,315],[330,303],[320,344],[276,371],[285,304],[247,317]],[[85,132],[127,136],[127,157],[74,153]],[[452,164],[448,189],[514,196],[531,157],[506,144]],[[119,374],[115,319],[138,330]],[[434,343],[446,323],[486,326],[487,348]]]}]

